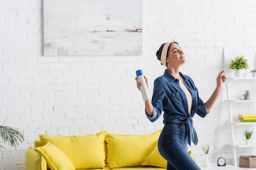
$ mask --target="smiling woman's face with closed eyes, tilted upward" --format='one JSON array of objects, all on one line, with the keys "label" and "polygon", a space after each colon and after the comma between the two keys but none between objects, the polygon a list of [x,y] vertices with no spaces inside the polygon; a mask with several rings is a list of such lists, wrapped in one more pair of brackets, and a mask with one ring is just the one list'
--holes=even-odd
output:
[{"label": "smiling woman's face with closed eyes, tilted upward", "polygon": [[168,65],[183,65],[186,62],[185,55],[180,48],[180,45],[176,43],[172,43],[170,47],[170,51],[168,53],[168,57],[166,58],[166,63]]}]

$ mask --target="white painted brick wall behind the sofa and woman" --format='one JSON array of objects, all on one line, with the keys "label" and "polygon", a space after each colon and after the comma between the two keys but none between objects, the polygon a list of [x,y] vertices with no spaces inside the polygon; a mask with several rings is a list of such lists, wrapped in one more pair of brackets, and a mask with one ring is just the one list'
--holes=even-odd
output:
[{"label": "white painted brick wall behind the sofa and woman", "polygon": [[[0,154],[0,170],[24,170],[25,151],[38,134],[147,134],[160,129],[162,116],[154,123],[146,119],[134,77],[143,69],[152,94],[154,79],[164,71],[155,53],[170,39],[183,47],[187,62],[181,71],[194,79],[204,101],[223,69],[222,47],[229,59],[244,54],[250,68],[256,66],[255,0],[144,0],[144,50],[139,57],[42,56],[42,8],[41,0],[0,1],[0,123],[8,116],[6,125],[19,128],[25,137],[23,144]],[[253,85],[238,82],[230,91],[239,97]],[[190,149],[196,161],[204,160],[201,147],[209,143],[212,163],[219,156],[232,163],[223,99],[225,89],[209,116],[194,118],[199,143]],[[253,113],[255,104],[233,105],[233,110]],[[244,142],[242,130],[236,130],[236,140]],[[256,154],[255,148],[238,152]]]}]

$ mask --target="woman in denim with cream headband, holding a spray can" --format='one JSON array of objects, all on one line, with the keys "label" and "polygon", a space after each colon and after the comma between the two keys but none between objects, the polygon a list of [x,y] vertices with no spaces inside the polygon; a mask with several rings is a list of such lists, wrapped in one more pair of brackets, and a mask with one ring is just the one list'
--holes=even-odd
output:
[{"label": "woman in denim with cream headband, holding a spray can", "polygon": [[[186,60],[177,42],[172,40],[162,44],[157,51],[157,59],[167,69],[154,80],[153,96],[151,100],[145,101],[145,113],[154,122],[164,112],[164,127],[158,139],[159,153],[167,161],[167,170],[200,170],[187,152],[187,145],[191,146],[191,141],[195,145],[198,143],[192,117],[196,113],[204,118],[212,109],[222,83],[226,81],[224,71],[218,74],[212,96],[203,102],[192,78],[179,72]],[[142,83],[138,82],[139,77],[135,79],[140,90]],[[145,80],[148,86],[146,77]]]}]

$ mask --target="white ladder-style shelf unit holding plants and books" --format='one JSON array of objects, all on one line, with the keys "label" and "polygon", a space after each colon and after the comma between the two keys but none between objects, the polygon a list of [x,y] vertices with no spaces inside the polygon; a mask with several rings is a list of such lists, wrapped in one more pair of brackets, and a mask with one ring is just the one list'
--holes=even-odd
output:
[{"label": "white ladder-style shelf unit holding plants and books", "polygon": [[[223,49],[223,57],[224,57],[224,69],[228,69],[226,68],[226,59],[225,59],[225,55],[224,55],[224,49]],[[236,144],[235,142],[235,127],[237,126],[254,126],[256,125],[256,122],[234,122],[233,121],[233,113],[231,112],[231,105],[233,104],[233,102],[240,102],[240,103],[254,103],[256,102],[256,99],[252,99],[252,100],[240,100],[240,99],[230,99],[230,96],[229,96],[229,83],[230,83],[230,80],[232,81],[236,81],[236,80],[240,80],[240,81],[243,81],[243,80],[255,80],[255,84],[256,84],[256,78],[253,78],[253,77],[249,77],[249,78],[245,78],[245,77],[242,77],[242,78],[236,78],[236,77],[229,77],[227,78],[226,80],[226,91],[227,91],[227,102],[228,102],[228,112],[229,112],[229,116],[230,116],[230,130],[231,130],[231,136],[232,136],[232,147],[233,147],[233,162],[234,162],[234,166],[238,166],[237,165],[237,154],[236,154],[236,149],[237,148],[244,148],[244,147],[255,147],[256,144],[251,144],[251,145],[244,145],[244,144]],[[253,82],[252,82],[253,83]],[[256,87],[256,85],[254,86]],[[256,88],[255,88],[256,89]]]}]

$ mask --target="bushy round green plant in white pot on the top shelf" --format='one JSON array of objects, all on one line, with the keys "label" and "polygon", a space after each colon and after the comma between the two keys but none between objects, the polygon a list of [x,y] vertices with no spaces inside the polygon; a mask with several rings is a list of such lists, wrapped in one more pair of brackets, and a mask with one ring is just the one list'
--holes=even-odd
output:
[{"label": "bushy round green plant in white pot on the top shelf", "polygon": [[244,74],[244,69],[247,69],[248,63],[247,63],[247,59],[244,58],[243,55],[241,55],[241,57],[236,56],[235,59],[231,60],[229,68],[232,70],[236,70],[235,71],[235,76],[236,77],[243,77]]}]

